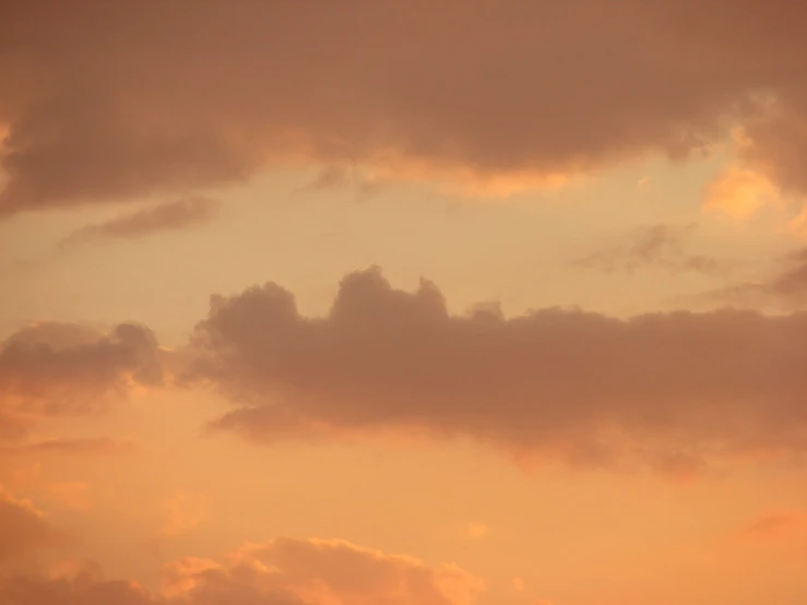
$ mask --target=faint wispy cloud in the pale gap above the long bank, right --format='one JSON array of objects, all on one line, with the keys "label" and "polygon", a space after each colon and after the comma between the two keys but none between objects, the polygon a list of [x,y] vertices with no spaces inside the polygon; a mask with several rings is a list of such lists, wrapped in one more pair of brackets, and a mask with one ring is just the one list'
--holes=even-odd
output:
[{"label": "faint wispy cloud in the pale gap above the long bank, right", "polygon": [[594,252],[579,261],[589,269],[633,273],[643,268],[657,268],[670,273],[695,272],[708,275],[725,271],[723,263],[703,254],[689,254],[686,245],[697,229],[689,225],[652,225],[631,234],[627,241]]}]

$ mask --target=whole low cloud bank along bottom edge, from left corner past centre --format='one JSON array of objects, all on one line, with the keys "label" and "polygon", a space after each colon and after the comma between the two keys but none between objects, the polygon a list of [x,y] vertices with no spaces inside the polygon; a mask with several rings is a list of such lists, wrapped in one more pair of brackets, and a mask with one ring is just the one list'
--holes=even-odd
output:
[{"label": "whole low cloud bank along bottom edge, from left corner past centre", "polygon": [[479,588],[454,566],[428,567],[344,541],[277,538],[223,561],[169,564],[161,594],[87,567],[73,578],[13,578],[0,584],[0,597],[14,605],[468,605]]}]

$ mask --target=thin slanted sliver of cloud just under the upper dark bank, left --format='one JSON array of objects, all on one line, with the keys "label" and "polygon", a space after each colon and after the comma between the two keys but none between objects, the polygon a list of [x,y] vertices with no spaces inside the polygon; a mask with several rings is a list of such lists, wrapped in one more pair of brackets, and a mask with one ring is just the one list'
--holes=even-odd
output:
[{"label": "thin slanted sliver of cloud just under the upper dark bank, left", "polygon": [[62,247],[99,239],[128,239],[177,230],[213,218],[218,202],[210,198],[187,198],[149,210],[124,214],[106,223],[83,227],[61,242]]}]

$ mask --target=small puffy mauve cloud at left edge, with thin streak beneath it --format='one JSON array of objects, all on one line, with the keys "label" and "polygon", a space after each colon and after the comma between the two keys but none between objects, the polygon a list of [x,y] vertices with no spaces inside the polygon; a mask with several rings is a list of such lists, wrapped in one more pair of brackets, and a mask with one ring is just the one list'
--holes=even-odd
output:
[{"label": "small puffy mauve cloud at left edge, with thin streak beneath it", "polygon": [[132,443],[110,438],[34,439],[49,418],[100,414],[116,400],[165,382],[152,332],[119,324],[107,333],[37,323],[0,343],[0,456],[116,455]]}]

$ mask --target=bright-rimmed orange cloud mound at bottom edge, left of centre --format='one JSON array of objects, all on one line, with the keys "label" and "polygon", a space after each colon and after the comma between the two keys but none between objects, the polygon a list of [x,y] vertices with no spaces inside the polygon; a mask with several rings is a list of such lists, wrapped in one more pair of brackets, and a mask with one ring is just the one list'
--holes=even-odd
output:
[{"label": "bright-rimmed orange cloud mound at bottom edge, left of centre", "polygon": [[248,545],[226,564],[186,559],[165,572],[168,594],[190,603],[466,605],[480,582],[454,566],[428,567],[336,539]]}]

